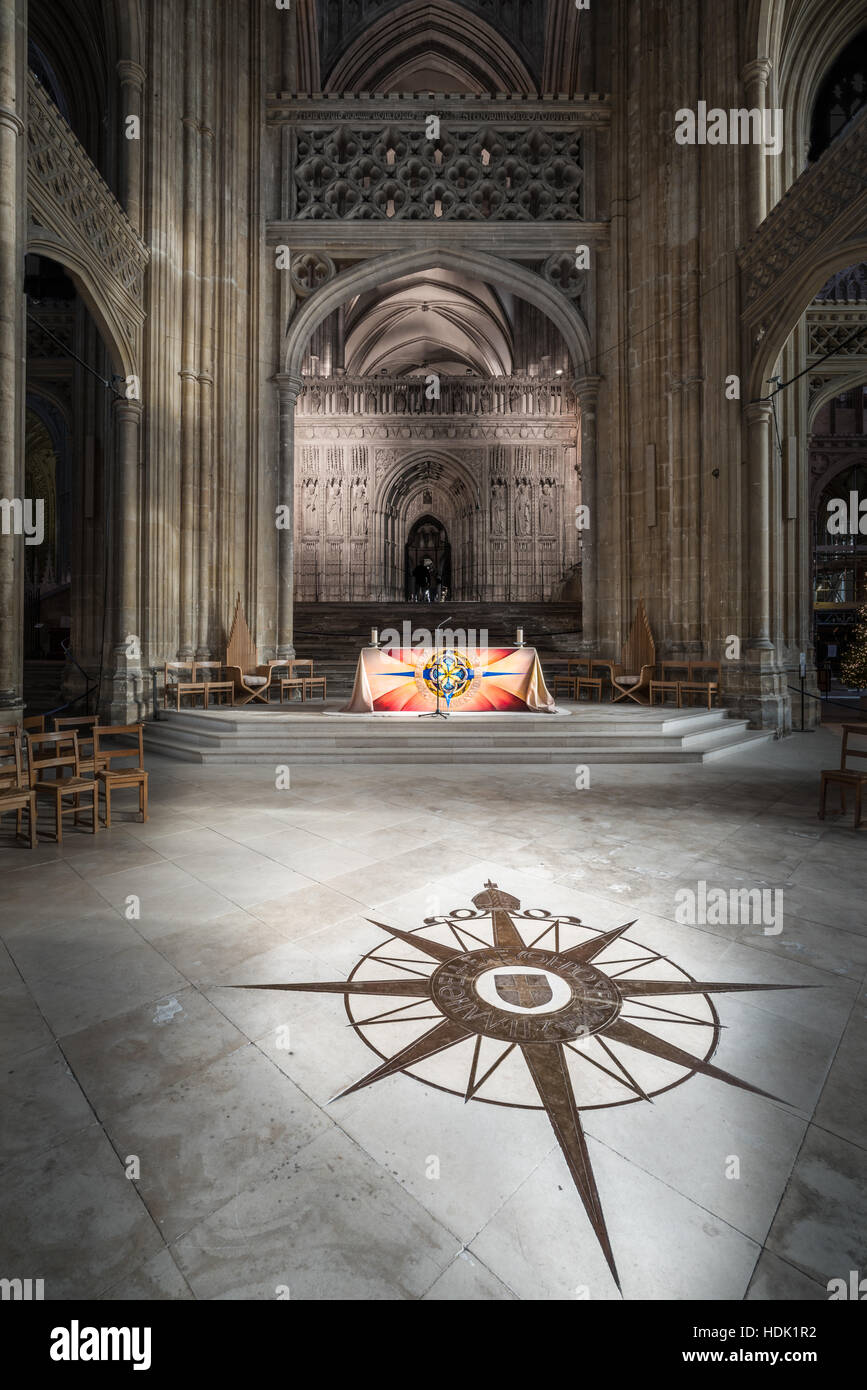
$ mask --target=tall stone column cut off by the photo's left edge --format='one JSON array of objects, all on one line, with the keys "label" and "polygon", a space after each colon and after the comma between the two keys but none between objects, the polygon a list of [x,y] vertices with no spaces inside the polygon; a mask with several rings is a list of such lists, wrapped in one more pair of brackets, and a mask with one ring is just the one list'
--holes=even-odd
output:
[{"label": "tall stone column cut off by the photo's left edge", "polygon": [[[0,498],[22,498],[26,85],[19,0],[0,0]],[[21,716],[24,539],[0,531],[0,724]]]}]

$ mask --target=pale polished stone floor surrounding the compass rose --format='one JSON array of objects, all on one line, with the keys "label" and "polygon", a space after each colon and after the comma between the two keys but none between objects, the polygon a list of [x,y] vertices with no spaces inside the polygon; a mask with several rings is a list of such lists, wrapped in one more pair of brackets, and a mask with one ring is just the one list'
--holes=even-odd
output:
[{"label": "pale polished stone floor surrounding the compass rose", "polygon": [[[118,802],[110,833],[31,852],[4,821],[0,1275],[49,1298],[827,1298],[867,1270],[867,826],[816,815],[838,749],[823,730],[581,788],[503,764],[276,790],[151,758],[146,824]],[[432,1006],[361,1001],[410,1012],[358,1029],[339,994],[239,988],[343,981],[385,959],[368,919],[411,931],[488,880],[634,922],[613,973],[810,987],[710,995],[713,1065],[770,1097],[614,1045],[588,1080],[570,1055],[620,1290],[521,1049],[485,1038],[468,1102],[471,1042],[333,1099]],[[782,930],[678,920],[699,883],[781,890]],[[411,945],[389,960],[425,974]],[[704,1056],[713,1013],[688,1004],[632,1016]],[[627,1058],[653,1099],[611,1104]]]}]

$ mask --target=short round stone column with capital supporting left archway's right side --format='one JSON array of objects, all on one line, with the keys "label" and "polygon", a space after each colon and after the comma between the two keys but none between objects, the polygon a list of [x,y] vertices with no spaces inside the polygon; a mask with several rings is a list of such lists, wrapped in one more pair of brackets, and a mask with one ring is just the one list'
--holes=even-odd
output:
[{"label": "short round stone column with capital supporting left archway's right side", "polygon": [[138,712],[142,678],[139,613],[139,461],[142,403],[118,399],[114,413],[114,531],[111,720],[125,723]]}]

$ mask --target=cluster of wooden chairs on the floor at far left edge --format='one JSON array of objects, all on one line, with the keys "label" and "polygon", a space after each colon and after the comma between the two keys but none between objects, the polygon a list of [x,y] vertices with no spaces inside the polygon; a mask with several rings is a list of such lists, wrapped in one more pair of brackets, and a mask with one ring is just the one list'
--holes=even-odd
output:
[{"label": "cluster of wooden chairs on the floor at far left edge", "polygon": [[[121,746],[106,745],[101,739],[133,739]],[[115,766],[121,762],[132,766]],[[63,817],[72,816],[74,824],[90,808],[90,830],[99,830],[99,794],[104,801],[106,827],[111,827],[111,795],[136,788],[139,815],[147,820],[147,773],[142,724],[103,724],[97,714],[78,714],[54,720],[54,730],[46,733],[44,717],[24,720],[0,728],[0,816],[15,812],[15,833],[22,834],[24,812],[28,812],[31,849],[36,848],[38,798],[50,798],[54,806],[54,838],[63,844]],[[71,801],[69,801],[71,799]]]}]

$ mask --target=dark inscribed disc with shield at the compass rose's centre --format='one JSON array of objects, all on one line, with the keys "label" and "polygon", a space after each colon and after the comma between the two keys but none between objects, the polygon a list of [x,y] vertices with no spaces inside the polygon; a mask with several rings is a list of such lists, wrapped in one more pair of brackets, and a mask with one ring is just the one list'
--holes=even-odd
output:
[{"label": "dark inscribed disc with shield at the compass rose's centre", "polygon": [[446,1017],[507,1042],[588,1037],[616,1019],[622,1002],[617,986],[592,965],[550,951],[497,948],[439,966],[431,997]]}]

